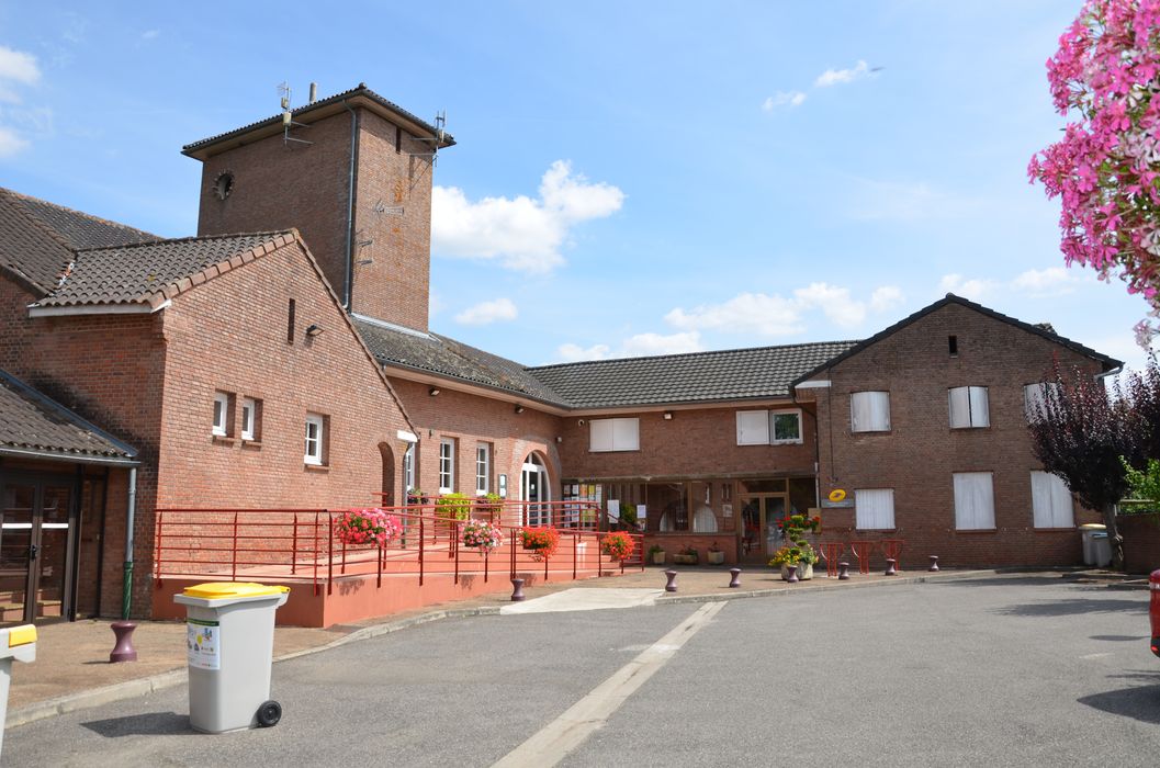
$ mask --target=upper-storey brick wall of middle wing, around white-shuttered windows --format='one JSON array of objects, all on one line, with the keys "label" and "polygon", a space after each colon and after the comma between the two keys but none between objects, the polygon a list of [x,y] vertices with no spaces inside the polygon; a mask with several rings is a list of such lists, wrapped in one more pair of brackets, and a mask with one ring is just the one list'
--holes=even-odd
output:
[{"label": "upper-storey brick wall of middle wing, around white-shuttered windows", "polygon": [[[792,408],[792,405],[763,406],[766,410]],[[640,419],[640,450],[590,452],[590,423],[603,416],[564,416],[560,459],[570,478],[784,477],[813,476],[814,418],[803,410],[802,434],[797,445],[738,445],[737,411],[749,408],[704,408],[673,411],[673,419],[661,413],[612,414]],[[581,419],[583,425],[580,425]]]}]

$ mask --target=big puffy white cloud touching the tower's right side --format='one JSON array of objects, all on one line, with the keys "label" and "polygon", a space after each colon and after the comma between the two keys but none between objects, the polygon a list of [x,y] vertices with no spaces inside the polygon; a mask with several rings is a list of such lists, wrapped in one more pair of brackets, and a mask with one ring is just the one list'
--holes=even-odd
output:
[{"label": "big puffy white cloud touching the tower's right side", "polygon": [[611,216],[624,193],[590,183],[557,160],[544,173],[539,197],[484,197],[471,202],[456,187],[432,191],[432,251],[464,259],[496,260],[517,271],[545,273],[564,263],[560,249],[573,226]]}]

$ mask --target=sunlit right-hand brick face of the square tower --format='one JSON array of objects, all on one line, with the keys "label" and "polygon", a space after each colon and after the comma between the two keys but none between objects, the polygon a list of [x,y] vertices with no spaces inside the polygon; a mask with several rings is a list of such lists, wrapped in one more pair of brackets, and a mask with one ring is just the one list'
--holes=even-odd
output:
[{"label": "sunlit right-hand brick face of the square tower", "polygon": [[[401,133],[374,113],[360,114],[358,194],[353,307],[355,312],[427,329],[430,287],[430,143]],[[384,209],[403,208],[403,216]],[[309,242],[310,240],[307,240]]]}]

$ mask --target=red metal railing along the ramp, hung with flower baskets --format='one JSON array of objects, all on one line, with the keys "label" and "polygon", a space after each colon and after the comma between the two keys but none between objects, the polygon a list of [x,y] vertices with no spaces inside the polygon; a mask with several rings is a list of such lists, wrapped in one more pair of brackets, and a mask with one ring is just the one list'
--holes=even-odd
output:
[{"label": "red metal railing along the ramp, hung with flower baskets", "polygon": [[[401,532],[385,546],[347,545],[334,531],[335,517],[345,510],[329,509],[158,509],[154,526],[153,568],[158,586],[166,578],[196,575],[212,580],[295,579],[310,581],[314,594],[331,594],[334,581],[374,575],[384,579],[415,578],[421,586],[430,575],[483,575],[543,570],[545,581],[553,575],[572,579],[583,573],[644,570],[640,534],[629,534],[633,552],[624,561],[603,553],[607,531],[592,530],[575,509],[554,502],[551,510],[559,545],[550,557],[524,550],[523,526],[498,523],[503,543],[491,552],[464,546],[466,520],[433,514],[435,505],[385,507],[401,526]],[[444,509],[445,510],[445,509]],[[473,512],[471,514],[474,514]],[[495,514],[502,519],[502,513]],[[595,520],[592,520],[595,524]],[[496,567],[498,564],[502,564]]]}]

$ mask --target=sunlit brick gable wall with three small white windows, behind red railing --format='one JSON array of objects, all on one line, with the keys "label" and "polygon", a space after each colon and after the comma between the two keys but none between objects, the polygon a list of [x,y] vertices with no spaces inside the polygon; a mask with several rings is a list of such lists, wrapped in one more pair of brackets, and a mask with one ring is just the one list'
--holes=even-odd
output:
[{"label": "sunlit brick gable wall with three small white windows, behind red railing", "polygon": [[[293,343],[288,300],[296,300]],[[320,335],[304,329],[320,325]],[[409,430],[342,310],[297,244],[177,296],[165,311],[169,347],[160,456],[160,506],[339,507],[377,500],[379,444],[401,471]],[[260,441],[211,435],[215,391],[261,400]],[[307,412],[328,418],[328,466],[303,462]]]}]

